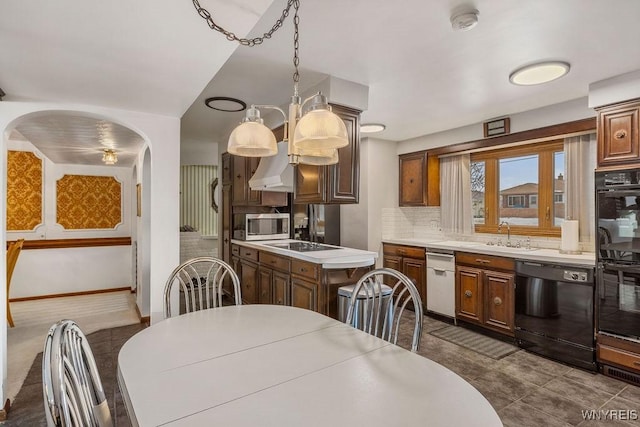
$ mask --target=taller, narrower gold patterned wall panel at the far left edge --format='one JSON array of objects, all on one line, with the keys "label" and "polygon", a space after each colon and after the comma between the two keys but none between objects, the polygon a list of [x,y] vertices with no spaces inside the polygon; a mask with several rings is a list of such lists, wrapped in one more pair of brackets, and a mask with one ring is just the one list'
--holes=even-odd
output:
[{"label": "taller, narrower gold patterned wall panel at the far left edge", "polygon": [[42,223],[42,160],[30,151],[7,152],[7,230]]}]

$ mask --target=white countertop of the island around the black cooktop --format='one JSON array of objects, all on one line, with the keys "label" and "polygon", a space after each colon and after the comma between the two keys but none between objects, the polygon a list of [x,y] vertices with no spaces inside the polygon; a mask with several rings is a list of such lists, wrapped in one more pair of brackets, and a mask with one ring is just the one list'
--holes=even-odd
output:
[{"label": "white countertop of the island around the black cooktop", "polygon": [[[338,249],[326,251],[298,252],[290,249],[276,248],[269,246],[270,243],[297,242],[298,240],[260,240],[244,241],[231,240],[231,243],[258,249],[260,251],[272,252],[274,254],[288,256],[314,264],[322,264],[325,269],[368,267],[375,264],[378,254],[376,252],[364,251],[361,249],[346,248],[343,246],[325,245]],[[324,245],[324,244],[323,244]]]}]

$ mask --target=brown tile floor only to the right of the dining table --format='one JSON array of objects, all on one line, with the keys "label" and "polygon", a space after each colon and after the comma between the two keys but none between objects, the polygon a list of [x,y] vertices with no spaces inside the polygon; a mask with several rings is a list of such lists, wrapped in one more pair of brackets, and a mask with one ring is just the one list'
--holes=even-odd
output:
[{"label": "brown tile floor only to the right of the dining table", "polygon": [[[640,416],[640,387],[524,350],[494,360],[428,333],[445,325],[425,317],[419,353],[478,389],[505,427],[640,426],[640,420],[595,421],[582,415],[582,411],[613,409]],[[631,412],[624,414],[633,417]]]}]

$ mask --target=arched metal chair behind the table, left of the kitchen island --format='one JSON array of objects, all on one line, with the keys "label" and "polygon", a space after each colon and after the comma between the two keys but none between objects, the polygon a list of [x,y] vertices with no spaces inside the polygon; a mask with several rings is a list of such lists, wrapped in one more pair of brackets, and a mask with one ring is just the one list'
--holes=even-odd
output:
[{"label": "arched metal chair behind the table, left of the kitchen island", "polygon": [[232,297],[235,305],[242,304],[238,275],[229,264],[218,258],[193,258],[173,270],[164,286],[165,319],[171,317],[174,285],[181,291],[184,313],[221,307],[225,296]]}]

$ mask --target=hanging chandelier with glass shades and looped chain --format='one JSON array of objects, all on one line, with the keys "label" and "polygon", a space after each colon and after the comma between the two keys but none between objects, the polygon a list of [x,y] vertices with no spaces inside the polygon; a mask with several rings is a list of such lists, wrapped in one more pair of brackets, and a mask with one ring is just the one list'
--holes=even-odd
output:
[{"label": "hanging chandelier with glass shades and looped chain", "polygon": [[[271,38],[273,33],[282,27],[284,20],[289,16],[291,7],[293,14],[293,95],[289,104],[289,114],[275,105],[251,105],[246,117],[238,125],[231,136],[227,151],[245,157],[266,157],[278,152],[275,136],[260,119],[259,109],[271,109],[279,111],[284,116],[284,141],[287,141],[289,150],[289,163],[328,165],[338,161],[338,148],[349,145],[347,128],[340,117],[331,111],[326,96],[318,92],[304,101],[298,94],[300,74],[298,72],[299,28],[300,17],[298,9],[300,0],[288,0],[282,15],[262,37],[252,39],[238,38],[234,33],[227,31],[213,21],[211,13],[200,6],[198,0],[193,0],[193,5],[198,14],[207,22],[209,27],[222,33],[228,40],[236,41],[243,46],[256,46]],[[310,101],[307,111],[303,108]],[[265,130],[266,129],[266,130]]]}]

